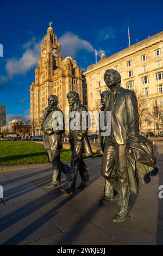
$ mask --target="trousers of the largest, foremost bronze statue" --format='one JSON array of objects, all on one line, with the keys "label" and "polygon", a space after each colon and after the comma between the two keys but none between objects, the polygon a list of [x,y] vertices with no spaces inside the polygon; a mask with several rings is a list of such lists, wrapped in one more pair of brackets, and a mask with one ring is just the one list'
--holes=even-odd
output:
[{"label": "trousers of the largest, foremost bronze statue", "polygon": [[102,162],[102,175],[118,192],[119,205],[128,207],[130,189],[125,149],[126,145],[118,145],[114,142],[105,144]]}]

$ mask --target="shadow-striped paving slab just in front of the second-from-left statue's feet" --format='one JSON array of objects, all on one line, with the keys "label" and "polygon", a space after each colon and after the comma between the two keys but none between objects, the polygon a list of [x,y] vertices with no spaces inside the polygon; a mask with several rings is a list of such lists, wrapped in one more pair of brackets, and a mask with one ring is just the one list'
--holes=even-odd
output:
[{"label": "shadow-striped paving slab just in front of the second-from-left statue's feet", "polygon": [[[74,199],[76,197],[77,199]],[[78,199],[81,202],[81,198],[77,193],[72,196],[61,194],[58,197],[57,195],[46,199],[44,197],[43,200],[42,198],[37,198],[33,200],[33,203],[61,230],[65,230],[67,226],[77,225],[90,220],[92,217],[102,216],[108,212],[106,209],[96,205],[96,202],[89,202],[88,200],[84,201],[82,199],[82,206],[79,206]]]}]

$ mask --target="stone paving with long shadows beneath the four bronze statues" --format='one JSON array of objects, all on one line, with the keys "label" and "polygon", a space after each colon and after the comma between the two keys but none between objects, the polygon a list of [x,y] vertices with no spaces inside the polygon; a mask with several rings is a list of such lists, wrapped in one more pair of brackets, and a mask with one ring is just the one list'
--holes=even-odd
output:
[{"label": "stone paving with long shadows beneath the four bronze statues", "polygon": [[[102,157],[87,159],[90,181],[87,187],[67,196],[66,185],[47,190],[52,168],[48,166],[0,173],[4,202],[0,202],[1,245],[163,245],[163,146],[154,145],[159,174],[131,195],[131,214],[125,222],[114,223],[117,199],[105,205]],[[78,175],[78,184],[80,177]],[[163,194],[163,193],[162,193]]]}]

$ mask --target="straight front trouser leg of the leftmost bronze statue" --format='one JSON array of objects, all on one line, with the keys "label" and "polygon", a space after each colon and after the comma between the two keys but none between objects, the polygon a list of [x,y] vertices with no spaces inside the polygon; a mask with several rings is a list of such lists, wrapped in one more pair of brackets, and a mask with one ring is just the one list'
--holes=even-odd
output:
[{"label": "straight front trouser leg of the leftmost bronze statue", "polygon": [[53,177],[52,183],[56,184],[61,180],[61,172],[60,172],[60,150],[47,150],[49,161],[53,166]]}]

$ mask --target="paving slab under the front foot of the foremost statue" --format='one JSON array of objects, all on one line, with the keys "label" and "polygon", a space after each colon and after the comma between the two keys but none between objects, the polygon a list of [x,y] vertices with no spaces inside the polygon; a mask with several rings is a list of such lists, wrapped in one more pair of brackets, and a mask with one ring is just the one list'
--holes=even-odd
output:
[{"label": "paving slab under the front foot of the foremost statue", "polygon": [[117,211],[110,212],[91,222],[124,245],[163,245],[163,220],[132,208],[133,218],[114,223],[112,218]]}]

